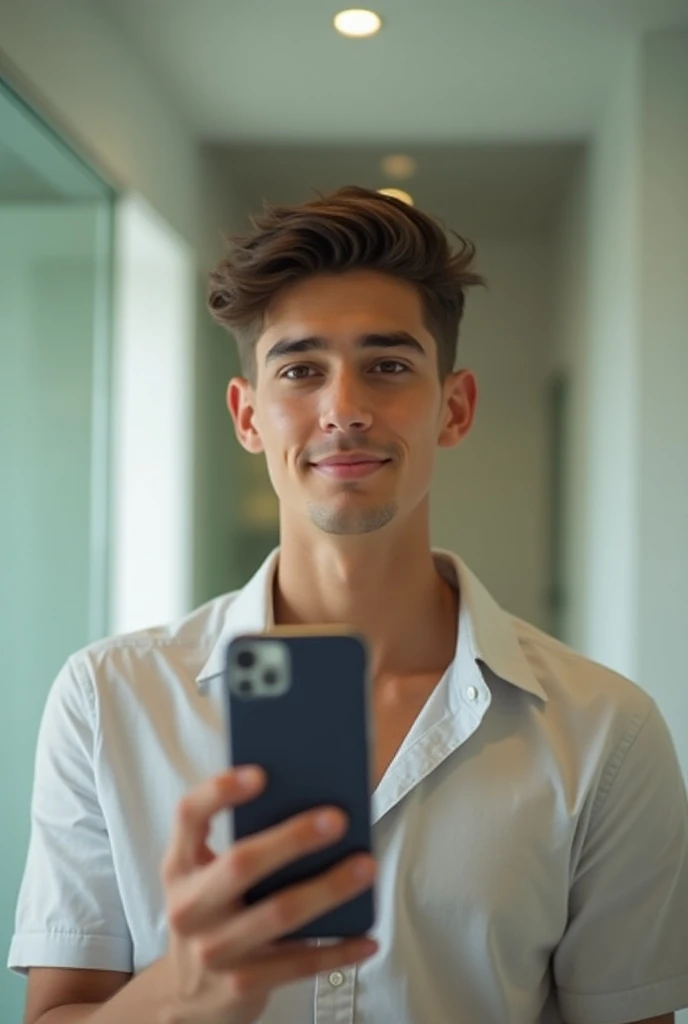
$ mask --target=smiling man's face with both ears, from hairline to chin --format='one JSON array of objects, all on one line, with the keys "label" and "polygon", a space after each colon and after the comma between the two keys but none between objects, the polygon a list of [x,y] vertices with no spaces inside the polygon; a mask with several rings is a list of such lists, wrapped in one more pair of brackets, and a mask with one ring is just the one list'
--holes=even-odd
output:
[{"label": "smiling man's face with both ears, from hairline to chin", "polygon": [[413,285],[371,270],[280,293],[256,345],[256,382],[229,385],[236,434],[264,452],[285,517],[364,534],[427,498],[435,451],[467,433],[475,380],[442,384]]}]

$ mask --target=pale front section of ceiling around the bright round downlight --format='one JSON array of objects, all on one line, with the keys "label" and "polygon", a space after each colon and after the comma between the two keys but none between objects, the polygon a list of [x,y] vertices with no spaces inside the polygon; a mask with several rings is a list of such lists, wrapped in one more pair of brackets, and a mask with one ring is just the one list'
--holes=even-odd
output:
[{"label": "pale front section of ceiling around the bright round downlight", "polygon": [[204,139],[426,142],[580,138],[626,41],[688,25],[688,0],[91,0]]}]

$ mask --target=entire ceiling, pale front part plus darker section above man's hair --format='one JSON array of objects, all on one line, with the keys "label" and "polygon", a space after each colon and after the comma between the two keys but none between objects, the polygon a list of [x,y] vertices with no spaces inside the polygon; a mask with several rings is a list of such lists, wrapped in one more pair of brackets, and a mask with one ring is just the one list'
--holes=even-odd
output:
[{"label": "entire ceiling, pale front part plus darker section above man's hair", "polygon": [[[688,0],[90,0],[221,162],[239,205],[394,184],[465,232],[542,230],[634,38]],[[347,40],[337,10],[382,32]]]}]

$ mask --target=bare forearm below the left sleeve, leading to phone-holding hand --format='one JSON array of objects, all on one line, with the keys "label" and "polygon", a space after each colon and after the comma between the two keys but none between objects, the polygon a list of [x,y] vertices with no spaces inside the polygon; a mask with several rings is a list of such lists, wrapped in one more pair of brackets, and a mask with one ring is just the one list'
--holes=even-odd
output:
[{"label": "bare forearm below the left sleeve, leading to phone-holding hand", "polygon": [[165,957],[141,971],[105,1002],[55,1007],[36,1024],[167,1024],[170,1018],[169,967]]}]

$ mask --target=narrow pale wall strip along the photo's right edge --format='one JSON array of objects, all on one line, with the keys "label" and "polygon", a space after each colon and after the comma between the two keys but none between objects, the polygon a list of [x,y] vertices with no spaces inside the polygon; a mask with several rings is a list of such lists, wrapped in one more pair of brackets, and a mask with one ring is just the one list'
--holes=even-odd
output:
[{"label": "narrow pale wall strip along the photo's right edge", "polygon": [[637,631],[688,776],[688,32],[642,54]]}]

